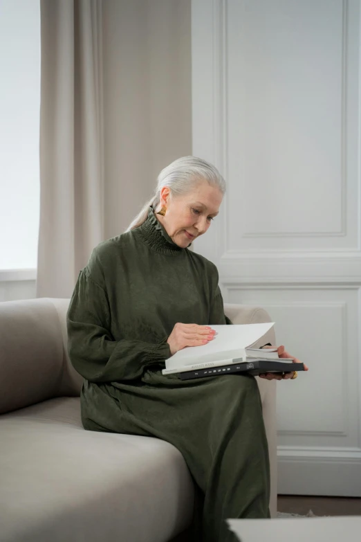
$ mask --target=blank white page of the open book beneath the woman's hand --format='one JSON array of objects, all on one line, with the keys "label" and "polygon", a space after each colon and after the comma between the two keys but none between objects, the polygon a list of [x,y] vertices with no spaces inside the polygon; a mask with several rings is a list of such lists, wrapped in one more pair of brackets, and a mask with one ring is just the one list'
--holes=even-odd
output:
[{"label": "blank white page of the open book beneath the woman's hand", "polygon": [[274,322],[243,325],[212,325],[216,336],[201,346],[186,346],[165,361],[167,369],[193,365],[205,361],[220,361],[226,358],[243,357],[246,361],[246,347],[253,345],[266,334]]}]

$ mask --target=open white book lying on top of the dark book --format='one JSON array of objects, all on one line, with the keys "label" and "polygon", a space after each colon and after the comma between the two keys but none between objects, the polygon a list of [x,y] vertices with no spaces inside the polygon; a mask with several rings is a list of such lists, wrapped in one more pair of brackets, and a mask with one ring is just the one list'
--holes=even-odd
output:
[{"label": "open white book lying on top of the dark book", "polygon": [[259,350],[252,348],[266,334],[274,322],[243,325],[212,325],[216,332],[214,339],[201,346],[187,346],[178,350],[165,361],[163,374],[186,372],[196,369],[219,367],[240,363],[248,359],[277,359],[285,363],[290,359],[279,359],[277,350]]}]

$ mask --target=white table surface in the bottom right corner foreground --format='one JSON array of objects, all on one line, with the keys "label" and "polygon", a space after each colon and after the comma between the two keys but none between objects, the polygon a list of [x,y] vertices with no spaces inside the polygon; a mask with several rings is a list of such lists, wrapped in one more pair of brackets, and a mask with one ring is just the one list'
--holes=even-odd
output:
[{"label": "white table surface in the bottom right corner foreground", "polygon": [[361,516],[228,519],[227,522],[241,542],[361,542]]}]

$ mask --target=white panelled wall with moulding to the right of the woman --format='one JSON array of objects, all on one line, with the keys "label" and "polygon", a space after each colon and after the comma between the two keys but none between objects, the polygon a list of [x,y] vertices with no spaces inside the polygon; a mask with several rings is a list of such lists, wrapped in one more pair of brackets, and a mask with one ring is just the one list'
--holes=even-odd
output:
[{"label": "white panelled wall with moulding to the right of the woman", "polygon": [[310,366],[277,383],[279,493],[361,496],[360,0],[192,1],[193,152],[228,181],[195,250]]}]

